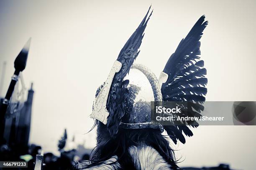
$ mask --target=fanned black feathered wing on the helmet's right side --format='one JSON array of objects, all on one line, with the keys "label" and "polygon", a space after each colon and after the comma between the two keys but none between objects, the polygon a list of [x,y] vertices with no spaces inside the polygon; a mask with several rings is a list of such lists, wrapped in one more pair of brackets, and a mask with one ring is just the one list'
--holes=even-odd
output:
[{"label": "fanned black feathered wing on the helmet's right side", "polygon": [[[206,69],[204,61],[200,60],[200,38],[207,26],[205,16],[199,18],[188,35],[181,40],[176,51],[167,61],[163,72],[168,74],[168,79],[161,86],[164,101],[189,101],[187,115],[200,117],[200,112],[204,109],[202,103],[205,101],[204,95],[207,93]],[[192,108],[189,108],[192,107]],[[186,116],[186,115],[184,115]],[[180,123],[180,125],[178,124]],[[192,122],[187,122],[191,125]],[[196,127],[193,122],[192,127]],[[185,122],[174,122],[172,126],[164,126],[170,138],[177,143],[177,140],[185,143],[182,132],[187,136],[193,133]]]}]

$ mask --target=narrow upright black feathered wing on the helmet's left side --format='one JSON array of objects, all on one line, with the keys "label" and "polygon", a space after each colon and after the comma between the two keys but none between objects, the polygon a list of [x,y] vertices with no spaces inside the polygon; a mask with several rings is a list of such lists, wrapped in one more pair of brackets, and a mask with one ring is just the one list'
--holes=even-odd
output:
[{"label": "narrow upright black feathered wing on the helmet's left side", "polygon": [[126,97],[128,96],[128,90],[126,87],[129,81],[123,81],[123,79],[129,72],[134,60],[140,52],[138,49],[141,46],[141,42],[144,36],[143,32],[153,12],[152,11],[148,16],[150,8],[151,7],[149,7],[146,16],[143,18],[138,28],[135,30],[135,32],[133,32],[131,37],[125,43],[117,58],[117,60],[122,63],[122,67],[120,71],[115,73],[115,76],[113,77],[107,102],[107,110],[109,112],[107,129],[111,137],[118,133],[121,118],[125,113],[125,101]]}]

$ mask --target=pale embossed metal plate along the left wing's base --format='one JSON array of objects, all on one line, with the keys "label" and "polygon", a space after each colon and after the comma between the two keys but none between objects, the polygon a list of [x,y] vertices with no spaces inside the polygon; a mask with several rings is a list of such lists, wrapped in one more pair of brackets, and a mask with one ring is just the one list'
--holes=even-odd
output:
[{"label": "pale embossed metal plate along the left wing's base", "polygon": [[110,73],[108,75],[107,80],[105,81],[105,84],[103,85],[102,89],[100,90],[99,94],[95,98],[95,106],[93,107],[91,118],[100,120],[103,124],[107,124],[108,120],[108,110],[107,107],[107,100],[108,100],[108,94],[109,90],[114,78],[114,75],[116,72],[119,72],[122,67],[122,63],[119,61],[115,61],[112,69],[110,70]]}]

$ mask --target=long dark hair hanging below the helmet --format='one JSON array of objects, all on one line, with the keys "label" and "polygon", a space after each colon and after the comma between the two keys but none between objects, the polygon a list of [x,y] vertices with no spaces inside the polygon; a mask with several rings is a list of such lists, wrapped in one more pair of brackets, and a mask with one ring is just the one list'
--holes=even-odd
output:
[{"label": "long dark hair hanging below the helmet", "polygon": [[[172,169],[179,169],[174,150],[169,146],[167,136],[161,134],[157,129],[123,129],[119,128],[115,138],[111,138],[106,132],[106,127],[96,120],[97,146],[92,150],[90,165],[84,165],[84,169],[99,166],[104,161],[116,155],[121,169],[136,169],[134,167],[128,148],[131,146],[151,146],[169,163]],[[94,126],[94,127],[95,127]]]}]

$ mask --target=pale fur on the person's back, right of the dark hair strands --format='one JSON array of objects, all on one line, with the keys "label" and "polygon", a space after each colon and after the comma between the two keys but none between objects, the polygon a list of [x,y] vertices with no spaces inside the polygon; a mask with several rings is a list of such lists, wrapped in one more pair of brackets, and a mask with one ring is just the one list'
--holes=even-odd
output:
[{"label": "pale fur on the person's back, right of the dark hair strands", "polygon": [[171,166],[150,146],[131,146],[128,150],[137,170],[171,170]]}]

